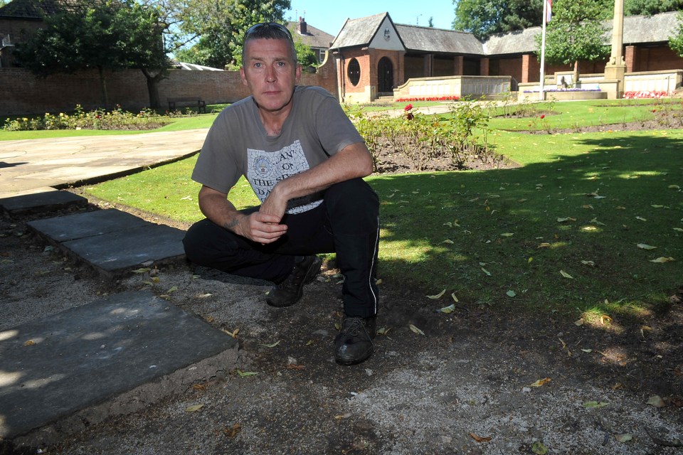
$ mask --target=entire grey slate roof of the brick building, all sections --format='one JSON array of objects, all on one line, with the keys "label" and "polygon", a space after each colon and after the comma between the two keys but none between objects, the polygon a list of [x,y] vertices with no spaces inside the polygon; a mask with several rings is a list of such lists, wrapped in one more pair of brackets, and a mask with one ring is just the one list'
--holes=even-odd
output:
[{"label": "entire grey slate roof of the brick building, all sections", "polygon": [[[655,16],[626,16],[624,18],[624,45],[661,44],[677,33],[677,11]],[[332,48],[369,45],[388,13],[375,14],[357,19],[346,19],[342,31],[332,43]],[[391,19],[391,17],[390,17]],[[513,31],[491,36],[481,42],[471,33],[443,30],[440,28],[394,24],[398,36],[409,52],[448,53],[457,55],[515,55],[536,52],[536,36],[541,27]],[[612,41],[612,21],[606,21],[605,44]]]}]

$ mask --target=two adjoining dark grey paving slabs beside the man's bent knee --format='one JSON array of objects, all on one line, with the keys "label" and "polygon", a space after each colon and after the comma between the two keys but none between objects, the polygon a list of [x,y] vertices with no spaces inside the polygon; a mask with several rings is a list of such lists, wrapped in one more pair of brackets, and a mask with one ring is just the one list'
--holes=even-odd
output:
[{"label": "two adjoining dark grey paving slabs beside the man's bent knee", "polygon": [[105,276],[123,275],[142,264],[176,262],[185,256],[184,230],[149,223],[116,209],[46,218],[28,225]]}]

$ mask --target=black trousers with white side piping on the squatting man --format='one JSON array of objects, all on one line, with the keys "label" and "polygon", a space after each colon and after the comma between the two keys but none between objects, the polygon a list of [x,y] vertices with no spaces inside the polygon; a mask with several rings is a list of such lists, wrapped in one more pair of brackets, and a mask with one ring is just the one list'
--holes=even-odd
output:
[{"label": "black trousers with white side piping on the squatting man", "polygon": [[[242,210],[251,213],[258,210]],[[379,242],[379,199],[361,178],[327,188],[322,204],[305,213],[285,214],[287,233],[261,245],[201,220],[189,228],[183,244],[191,262],[242,277],[281,282],[292,272],[295,256],[337,253],[344,275],[346,316],[377,313],[375,284]]]}]

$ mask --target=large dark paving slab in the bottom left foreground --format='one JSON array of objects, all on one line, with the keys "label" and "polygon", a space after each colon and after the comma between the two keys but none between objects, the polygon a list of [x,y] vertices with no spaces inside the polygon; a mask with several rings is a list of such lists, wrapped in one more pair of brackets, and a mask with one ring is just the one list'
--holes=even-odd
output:
[{"label": "large dark paving slab in the bottom left foreground", "polygon": [[151,291],[0,331],[0,437],[33,434],[40,444],[133,412],[233,370],[237,349],[234,338]]}]

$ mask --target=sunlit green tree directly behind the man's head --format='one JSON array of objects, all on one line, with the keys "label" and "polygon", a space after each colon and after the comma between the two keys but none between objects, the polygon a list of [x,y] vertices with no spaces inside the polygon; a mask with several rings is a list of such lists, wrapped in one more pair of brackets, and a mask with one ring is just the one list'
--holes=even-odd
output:
[{"label": "sunlit green tree directly behind the man's head", "polygon": [[181,3],[176,6],[179,31],[191,43],[176,55],[214,68],[240,66],[245,31],[259,22],[283,23],[285,11],[291,6],[290,0],[176,1]]}]

